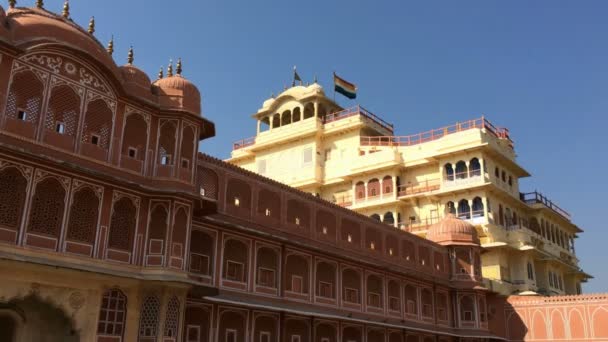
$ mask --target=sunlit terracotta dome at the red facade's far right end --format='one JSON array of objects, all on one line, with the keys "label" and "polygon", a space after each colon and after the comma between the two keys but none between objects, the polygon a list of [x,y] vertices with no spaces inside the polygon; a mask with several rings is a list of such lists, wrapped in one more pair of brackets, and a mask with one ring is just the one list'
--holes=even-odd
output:
[{"label": "sunlit terracotta dome at the red facade's far right end", "polygon": [[478,245],[479,236],[475,227],[452,214],[429,228],[426,238],[441,245]]}]

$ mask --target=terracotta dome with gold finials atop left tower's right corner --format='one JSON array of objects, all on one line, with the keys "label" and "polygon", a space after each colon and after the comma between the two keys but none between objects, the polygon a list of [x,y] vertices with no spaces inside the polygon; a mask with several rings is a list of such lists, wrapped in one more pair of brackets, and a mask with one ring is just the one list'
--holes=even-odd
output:
[{"label": "terracotta dome with gold finials atop left tower's right corner", "polygon": [[162,108],[201,115],[201,93],[194,83],[175,75],[161,78],[154,85]]}]

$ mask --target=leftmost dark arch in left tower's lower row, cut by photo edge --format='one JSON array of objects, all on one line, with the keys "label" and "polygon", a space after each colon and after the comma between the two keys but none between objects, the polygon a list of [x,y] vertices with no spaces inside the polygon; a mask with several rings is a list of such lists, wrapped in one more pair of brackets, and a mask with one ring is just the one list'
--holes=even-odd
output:
[{"label": "leftmost dark arch in left tower's lower row, cut by photo edge", "polygon": [[[27,179],[14,167],[0,170],[0,226],[17,231],[25,206]],[[13,241],[14,242],[14,241]]]}]

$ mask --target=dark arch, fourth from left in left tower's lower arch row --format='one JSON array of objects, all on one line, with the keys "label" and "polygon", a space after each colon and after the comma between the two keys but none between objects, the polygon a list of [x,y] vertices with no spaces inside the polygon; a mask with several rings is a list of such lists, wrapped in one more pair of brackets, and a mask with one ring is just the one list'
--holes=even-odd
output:
[{"label": "dark arch, fourth from left in left tower's lower arch row", "polygon": [[114,203],[112,219],[110,221],[110,234],[108,248],[128,251],[133,244],[135,223],[137,222],[137,208],[133,202],[123,197]]}]

